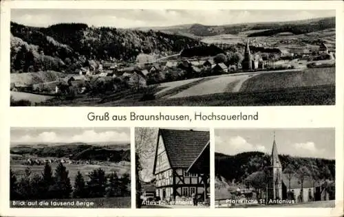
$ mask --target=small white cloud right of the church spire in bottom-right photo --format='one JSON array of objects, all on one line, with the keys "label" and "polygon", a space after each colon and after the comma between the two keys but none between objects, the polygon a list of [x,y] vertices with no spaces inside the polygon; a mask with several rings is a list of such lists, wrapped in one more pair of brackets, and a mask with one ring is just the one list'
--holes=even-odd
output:
[{"label": "small white cloud right of the church spire in bottom-right photo", "polygon": [[292,152],[300,157],[319,157],[325,152],[325,148],[317,148],[313,141],[292,144]]}]

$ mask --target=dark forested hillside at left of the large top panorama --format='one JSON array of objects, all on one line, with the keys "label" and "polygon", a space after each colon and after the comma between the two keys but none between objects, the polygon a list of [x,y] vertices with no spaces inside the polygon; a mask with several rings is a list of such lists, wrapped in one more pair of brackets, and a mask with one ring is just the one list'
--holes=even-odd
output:
[{"label": "dark forested hillside at left of the large top panorama", "polygon": [[138,54],[169,54],[200,42],[163,32],[89,27],[61,23],[28,27],[11,23],[11,69],[17,71],[74,71],[88,60],[135,60]]}]

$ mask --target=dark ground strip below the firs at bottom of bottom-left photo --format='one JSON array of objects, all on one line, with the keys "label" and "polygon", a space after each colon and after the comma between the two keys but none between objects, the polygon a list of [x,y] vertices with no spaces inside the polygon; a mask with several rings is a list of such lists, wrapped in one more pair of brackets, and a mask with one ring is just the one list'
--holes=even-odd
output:
[{"label": "dark ground strip below the firs at bottom of bottom-left photo", "polygon": [[[40,202],[45,205],[39,205]],[[38,200],[38,201],[21,201],[25,205],[14,205],[10,201],[10,207],[21,208],[130,208],[131,198],[129,196],[110,197],[110,198],[87,198],[87,199],[62,199],[62,200]],[[65,202],[68,205],[53,205],[54,202]],[[38,205],[35,205],[37,203]],[[93,204],[92,204],[93,203]],[[32,204],[32,205],[29,205]]]}]

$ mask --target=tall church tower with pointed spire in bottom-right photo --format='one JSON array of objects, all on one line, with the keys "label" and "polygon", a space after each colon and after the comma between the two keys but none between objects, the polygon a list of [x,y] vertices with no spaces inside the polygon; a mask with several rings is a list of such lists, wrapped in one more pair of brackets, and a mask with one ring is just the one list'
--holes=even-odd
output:
[{"label": "tall church tower with pointed spire in bottom-right photo", "polygon": [[272,166],[272,191],[273,191],[272,198],[282,199],[282,165],[281,165],[281,161],[279,161],[275,132],[274,132],[274,141],[272,144],[271,166]]}]

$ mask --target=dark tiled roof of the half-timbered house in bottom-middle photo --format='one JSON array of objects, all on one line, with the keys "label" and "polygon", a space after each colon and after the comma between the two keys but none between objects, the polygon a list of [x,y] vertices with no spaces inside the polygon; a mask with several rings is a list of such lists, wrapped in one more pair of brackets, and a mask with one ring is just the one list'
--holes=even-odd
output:
[{"label": "dark tiled roof of the half-timbered house in bottom-middle photo", "polygon": [[209,132],[160,129],[172,168],[189,168],[208,144]]}]

